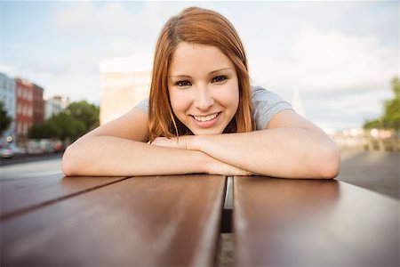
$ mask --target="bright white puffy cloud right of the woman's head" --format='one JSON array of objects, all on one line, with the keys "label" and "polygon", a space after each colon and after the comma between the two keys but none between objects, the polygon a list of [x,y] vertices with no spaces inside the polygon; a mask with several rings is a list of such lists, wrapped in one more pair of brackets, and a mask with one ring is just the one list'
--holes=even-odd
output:
[{"label": "bright white puffy cloud right of the woman's head", "polygon": [[382,90],[396,75],[398,55],[376,36],[338,30],[300,30],[284,57],[251,54],[253,78],[261,84],[306,92]]}]

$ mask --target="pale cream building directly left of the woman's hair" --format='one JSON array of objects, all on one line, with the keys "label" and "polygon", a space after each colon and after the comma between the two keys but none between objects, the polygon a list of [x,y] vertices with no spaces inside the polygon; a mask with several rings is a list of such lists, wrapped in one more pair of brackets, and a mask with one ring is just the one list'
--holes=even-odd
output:
[{"label": "pale cream building directly left of the woman's hair", "polygon": [[100,62],[100,125],[124,115],[148,97],[152,57],[132,55]]}]

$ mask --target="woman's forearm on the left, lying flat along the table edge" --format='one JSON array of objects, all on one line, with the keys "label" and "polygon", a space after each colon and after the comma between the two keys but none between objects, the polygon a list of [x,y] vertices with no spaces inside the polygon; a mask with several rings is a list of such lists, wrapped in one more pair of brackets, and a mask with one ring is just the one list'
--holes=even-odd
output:
[{"label": "woman's forearm on the left, lying flat along the table edge", "polygon": [[68,147],[62,163],[66,175],[135,176],[204,173],[209,159],[200,151],[92,136]]}]

